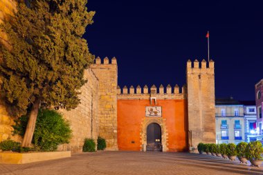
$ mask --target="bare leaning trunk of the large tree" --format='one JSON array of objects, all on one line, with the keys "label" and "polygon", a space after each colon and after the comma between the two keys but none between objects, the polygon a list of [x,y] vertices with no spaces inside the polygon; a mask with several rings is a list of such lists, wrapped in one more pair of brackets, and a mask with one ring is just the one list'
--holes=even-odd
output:
[{"label": "bare leaning trunk of the large tree", "polygon": [[37,121],[39,106],[40,106],[40,100],[35,99],[33,103],[33,107],[29,114],[28,125],[26,125],[26,133],[23,138],[22,147],[30,147],[31,145],[33,134],[35,131],[35,123]]}]

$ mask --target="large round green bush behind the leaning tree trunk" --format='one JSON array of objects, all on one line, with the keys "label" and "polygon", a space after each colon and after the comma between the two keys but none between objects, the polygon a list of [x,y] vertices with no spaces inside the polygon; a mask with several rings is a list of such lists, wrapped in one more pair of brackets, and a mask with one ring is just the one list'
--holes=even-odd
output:
[{"label": "large round green bush behind the leaning tree trunk", "polygon": [[[28,116],[21,116],[15,121],[14,134],[24,136]],[[57,146],[69,143],[71,138],[71,128],[68,121],[63,119],[62,114],[55,110],[39,110],[37,123],[33,135],[33,144],[44,152],[55,151]]]}]

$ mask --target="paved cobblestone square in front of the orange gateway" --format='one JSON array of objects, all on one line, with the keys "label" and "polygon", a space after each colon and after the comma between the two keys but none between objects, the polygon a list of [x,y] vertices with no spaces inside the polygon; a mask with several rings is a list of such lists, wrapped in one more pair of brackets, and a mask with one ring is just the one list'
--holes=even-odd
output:
[{"label": "paved cobblestone square in front of the orange gateway", "polygon": [[0,174],[263,174],[263,168],[205,154],[95,152],[24,165],[0,164]]}]

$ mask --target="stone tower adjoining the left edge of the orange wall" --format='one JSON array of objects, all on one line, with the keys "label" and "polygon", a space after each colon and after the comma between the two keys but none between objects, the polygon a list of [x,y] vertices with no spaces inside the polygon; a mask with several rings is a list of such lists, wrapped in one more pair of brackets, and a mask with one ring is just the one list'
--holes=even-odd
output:
[{"label": "stone tower adjoining the left edge of the orange wall", "polygon": [[114,57],[109,63],[106,57],[101,63],[100,58],[91,65],[99,81],[99,136],[106,139],[107,150],[118,150],[117,143],[117,85],[118,85],[118,67]]}]

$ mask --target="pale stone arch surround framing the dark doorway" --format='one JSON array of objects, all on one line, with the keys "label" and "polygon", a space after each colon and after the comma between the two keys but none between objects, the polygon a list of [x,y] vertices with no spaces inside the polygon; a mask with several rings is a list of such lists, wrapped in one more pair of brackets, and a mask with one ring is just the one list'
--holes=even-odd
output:
[{"label": "pale stone arch surround framing the dark doorway", "polygon": [[147,126],[151,123],[157,123],[161,127],[161,145],[162,151],[167,152],[168,150],[168,134],[165,126],[165,119],[162,117],[145,117],[142,122],[142,127],[140,130],[140,143],[141,151],[146,152],[147,145]]}]

